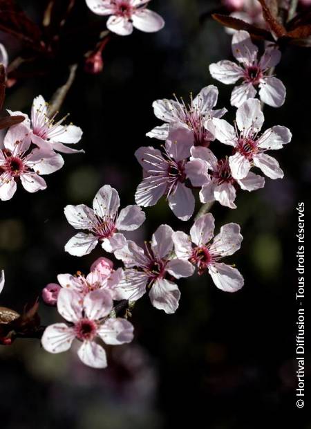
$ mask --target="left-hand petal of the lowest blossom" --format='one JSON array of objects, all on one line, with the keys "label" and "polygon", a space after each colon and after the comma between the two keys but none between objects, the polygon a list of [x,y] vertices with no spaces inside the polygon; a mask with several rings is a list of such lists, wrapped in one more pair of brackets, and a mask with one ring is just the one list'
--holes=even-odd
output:
[{"label": "left-hand petal of the lowest blossom", "polygon": [[68,327],[65,323],[55,323],[46,328],[41,338],[41,344],[46,352],[62,353],[70,349],[74,339],[73,328]]}]

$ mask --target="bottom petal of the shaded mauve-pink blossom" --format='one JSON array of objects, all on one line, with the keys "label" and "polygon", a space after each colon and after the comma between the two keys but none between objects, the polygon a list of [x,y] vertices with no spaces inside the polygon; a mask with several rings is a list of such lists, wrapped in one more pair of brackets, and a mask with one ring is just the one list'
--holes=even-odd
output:
[{"label": "bottom petal of the shaded mauve-pink blossom", "polygon": [[191,189],[183,183],[178,183],[176,190],[168,198],[169,207],[173,214],[182,221],[187,221],[194,214],[195,199]]}]

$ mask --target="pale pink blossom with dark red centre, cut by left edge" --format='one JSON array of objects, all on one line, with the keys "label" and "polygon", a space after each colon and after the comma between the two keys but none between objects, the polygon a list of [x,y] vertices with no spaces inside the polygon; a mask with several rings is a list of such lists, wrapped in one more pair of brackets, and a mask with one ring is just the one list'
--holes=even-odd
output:
[{"label": "pale pink blossom with dark red centre, cut by left edge", "polygon": [[56,172],[64,165],[59,154],[49,149],[30,150],[31,138],[23,124],[10,127],[0,150],[0,199],[11,199],[21,180],[28,192],[46,189],[46,181],[39,174]]}]

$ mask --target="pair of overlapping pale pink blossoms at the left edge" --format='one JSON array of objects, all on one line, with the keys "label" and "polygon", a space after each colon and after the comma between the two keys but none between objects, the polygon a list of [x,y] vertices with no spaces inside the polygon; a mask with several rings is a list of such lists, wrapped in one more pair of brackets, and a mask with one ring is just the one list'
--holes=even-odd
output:
[{"label": "pair of overlapping pale pink blossoms at the left edge", "polygon": [[28,192],[46,189],[41,175],[54,173],[64,165],[64,158],[55,151],[84,152],[66,146],[78,143],[82,130],[75,125],[62,125],[66,117],[55,122],[55,114],[49,115],[48,104],[41,95],[33,100],[31,120],[19,111],[8,112],[25,119],[8,129],[0,149],[0,199],[3,201],[13,197],[19,179]]}]

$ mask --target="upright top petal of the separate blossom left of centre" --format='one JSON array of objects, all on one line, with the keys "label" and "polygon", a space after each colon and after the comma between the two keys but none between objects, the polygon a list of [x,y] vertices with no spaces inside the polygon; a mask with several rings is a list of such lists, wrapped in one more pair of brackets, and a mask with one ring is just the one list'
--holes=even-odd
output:
[{"label": "upright top petal of the separate blossom left of centre", "polygon": [[93,209],[97,216],[114,219],[120,207],[119,194],[110,185],[104,185],[93,199]]}]

